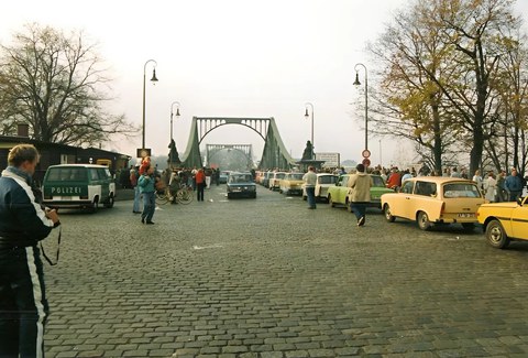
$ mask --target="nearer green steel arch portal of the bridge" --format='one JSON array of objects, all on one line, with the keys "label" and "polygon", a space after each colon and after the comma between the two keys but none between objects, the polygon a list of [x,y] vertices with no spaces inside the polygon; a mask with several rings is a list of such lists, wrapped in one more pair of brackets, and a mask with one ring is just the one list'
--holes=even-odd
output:
[{"label": "nearer green steel arch portal of the bridge", "polygon": [[277,124],[273,117],[270,118],[233,118],[233,117],[193,117],[187,149],[182,155],[184,167],[201,167],[204,162],[200,154],[200,143],[204,138],[215,129],[239,124],[255,131],[264,140],[264,150],[258,169],[285,169],[295,165],[295,160],[286,150],[280,139]]}]

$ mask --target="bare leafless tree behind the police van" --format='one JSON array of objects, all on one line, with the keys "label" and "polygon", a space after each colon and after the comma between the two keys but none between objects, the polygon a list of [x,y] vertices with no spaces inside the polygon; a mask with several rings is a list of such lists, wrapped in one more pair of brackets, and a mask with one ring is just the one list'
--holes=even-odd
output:
[{"label": "bare leafless tree behind the police van", "polygon": [[1,129],[30,126],[33,139],[73,145],[95,144],[110,134],[136,129],[124,115],[103,110],[111,100],[105,90],[102,61],[81,32],[69,35],[37,24],[26,25],[12,45],[0,45]]}]

